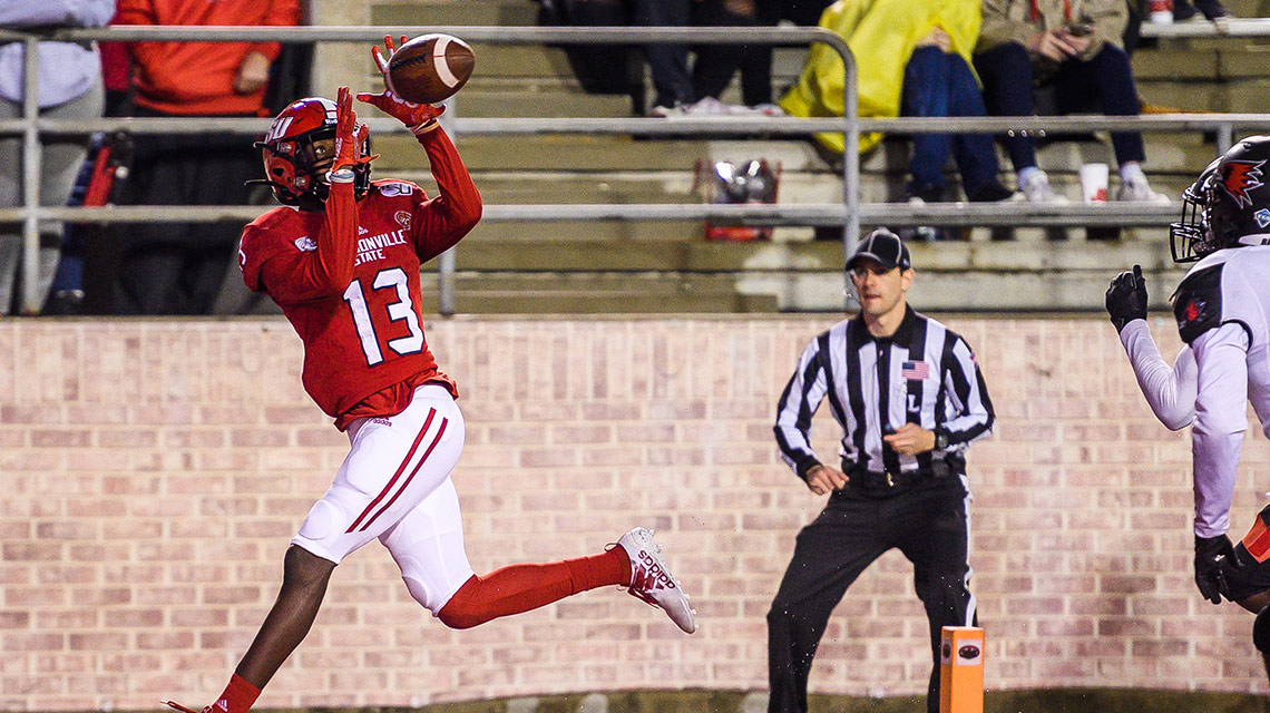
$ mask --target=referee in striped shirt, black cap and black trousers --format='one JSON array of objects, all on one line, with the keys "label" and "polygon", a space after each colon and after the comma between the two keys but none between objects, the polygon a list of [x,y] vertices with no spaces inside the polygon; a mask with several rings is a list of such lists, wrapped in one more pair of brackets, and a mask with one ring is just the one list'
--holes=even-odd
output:
[{"label": "referee in striped shirt, black cap and black trousers", "polygon": [[[869,564],[899,548],[930,620],[926,704],[937,713],[941,629],[977,621],[965,451],[992,430],[992,402],[969,344],[906,302],[916,275],[899,238],[874,230],[847,271],[860,314],[808,344],[777,404],[781,456],[813,493],[831,494],[799,533],[767,613],[767,709],[806,712],[829,613]],[[842,426],[841,470],[820,463],[809,441],[826,397]]]}]

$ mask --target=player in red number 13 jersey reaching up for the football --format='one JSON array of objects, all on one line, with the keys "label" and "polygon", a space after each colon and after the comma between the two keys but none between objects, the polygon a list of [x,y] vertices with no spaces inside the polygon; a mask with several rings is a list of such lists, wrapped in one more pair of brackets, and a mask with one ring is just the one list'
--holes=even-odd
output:
[{"label": "player in red number 13 jersey reaching up for the football", "polygon": [[[391,57],[394,43],[385,42]],[[386,67],[378,47],[373,55]],[[357,98],[410,127],[439,194],[429,198],[405,180],[370,180],[376,156],[368,155],[368,131],[357,123],[348,88],[335,102],[295,102],[259,144],[265,180],[291,207],[243,231],[243,278],[296,329],[305,389],[348,433],[351,452],[292,539],[277,601],[204,713],[251,708],[309,633],[335,566],[373,539],[392,554],[410,596],[452,628],[618,585],[665,610],[685,632],[696,629],[683,588],[644,527],[602,554],[472,572],[450,479],[464,417],[455,383],[437,370],[423,336],[419,267],[476,225],[481,200],[437,123],[444,107],[404,102],[390,90]]]}]

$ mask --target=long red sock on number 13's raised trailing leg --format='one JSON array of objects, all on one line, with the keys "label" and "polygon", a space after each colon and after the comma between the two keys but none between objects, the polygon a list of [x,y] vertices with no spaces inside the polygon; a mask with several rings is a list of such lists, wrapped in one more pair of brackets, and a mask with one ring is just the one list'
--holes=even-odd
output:
[{"label": "long red sock on number 13's raised trailing leg", "polygon": [[630,581],[630,558],[620,547],[603,554],[550,564],[512,564],[484,577],[474,574],[450,597],[438,618],[453,629],[469,629],[569,595],[607,585],[629,585]]}]

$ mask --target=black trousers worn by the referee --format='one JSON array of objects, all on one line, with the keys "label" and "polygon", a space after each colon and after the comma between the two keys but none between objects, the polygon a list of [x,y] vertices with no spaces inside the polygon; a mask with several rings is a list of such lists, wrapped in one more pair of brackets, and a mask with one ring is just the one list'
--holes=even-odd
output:
[{"label": "black trousers worn by the referee", "polygon": [[913,583],[931,630],[926,707],[940,708],[940,639],[946,625],[974,625],[969,496],[963,478],[921,480],[889,497],[846,489],[798,535],[794,558],[767,613],[768,713],[805,713],[806,679],[833,608],[875,559],[899,548],[913,563]]}]

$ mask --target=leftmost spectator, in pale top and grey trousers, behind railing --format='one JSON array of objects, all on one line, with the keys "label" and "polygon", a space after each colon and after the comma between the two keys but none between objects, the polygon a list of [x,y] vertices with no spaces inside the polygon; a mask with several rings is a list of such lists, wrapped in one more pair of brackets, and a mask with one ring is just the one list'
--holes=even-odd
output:
[{"label": "leftmost spectator, in pale top and grey trousers, behind railing", "polygon": [[[114,0],[39,0],[0,3],[0,27],[102,27],[114,14]],[[18,118],[23,113],[24,84],[23,43],[0,44],[0,118]],[[77,42],[41,42],[37,46],[37,103],[44,118],[94,118],[102,116],[102,65],[95,44]],[[23,140],[20,136],[0,137],[0,206],[23,203]],[[39,156],[39,205],[65,206],[75,183],[75,174],[84,161],[83,139],[43,139]],[[47,230],[47,233],[46,233]],[[61,229],[41,226],[39,277],[37,289],[42,299],[52,280],[57,262]],[[20,278],[23,236],[13,227],[0,231],[0,314],[10,314]]]}]

